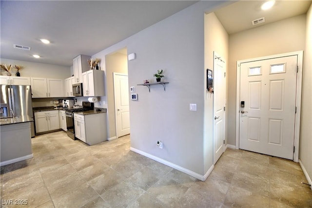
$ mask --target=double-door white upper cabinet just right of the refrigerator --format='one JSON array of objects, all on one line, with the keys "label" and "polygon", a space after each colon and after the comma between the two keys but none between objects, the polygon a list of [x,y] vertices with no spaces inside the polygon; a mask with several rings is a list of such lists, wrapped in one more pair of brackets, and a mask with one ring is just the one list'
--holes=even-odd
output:
[{"label": "double-door white upper cabinet just right of the refrigerator", "polygon": [[64,83],[62,79],[31,77],[32,97],[63,97]]}]

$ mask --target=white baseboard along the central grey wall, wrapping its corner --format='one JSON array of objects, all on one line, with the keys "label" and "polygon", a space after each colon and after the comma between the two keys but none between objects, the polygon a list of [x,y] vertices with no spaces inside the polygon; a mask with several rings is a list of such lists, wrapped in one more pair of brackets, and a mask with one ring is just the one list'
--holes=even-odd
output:
[{"label": "white baseboard along the central grey wall, wrapping its corner", "polygon": [[162,163],[162,164],[164,164],[166,166],[169,166],[169,167],[171,167],[173,169],[176,169],[176,170],[184,172],[184,173],[186,173],[188,175],[191,175],[191,176],[193,176],[193,177],[195,177],[195,178],[197,178],[198,180],[201,180],[201,181],[205,181],[207,179],[208,175],[211,173],[211,171],[215,167],[213,165],[212,167],[210,167],[210,169],[207,171],[207,173],[205,175],[200,175],[200,174],[198,174],[198,173],[196,173],[196,172],[194,172],[192,170],[185,169],[185,168],[183,168],[181,166],[178,166],[178,165],[176,165],[174,163],[171,163],[171,162],[169,162],[167,160],[164,160],[164,159],[161,159],[159,157],[156,157],[156,156],[154,156],[152,154],[146,153],[144,151],[137,150],[136,148],[131,147],[130,150],[134,151],[134,152],[137,152],[138,154],[141,154],[141,155],[146,156],[148,158],[151,158],[151,159],[153,159],[153,160],[155,160],[155,161],[157,161],[159,163]]}]

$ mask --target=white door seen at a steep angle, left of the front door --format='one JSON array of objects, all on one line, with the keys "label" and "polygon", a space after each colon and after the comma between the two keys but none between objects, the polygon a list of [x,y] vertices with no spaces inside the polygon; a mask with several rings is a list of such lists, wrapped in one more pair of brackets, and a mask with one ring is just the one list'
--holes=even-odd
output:
[{"label": "white door seen at a steep angle, left of the front door", "polygon": [[225,60],[214,52],[214,164],[224,151]]}]

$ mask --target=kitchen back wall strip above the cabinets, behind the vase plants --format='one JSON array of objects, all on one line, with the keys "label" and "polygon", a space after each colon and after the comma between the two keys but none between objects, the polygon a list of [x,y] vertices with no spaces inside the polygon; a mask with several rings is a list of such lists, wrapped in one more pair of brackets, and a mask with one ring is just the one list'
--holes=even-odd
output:
[{"label": "kitchen back wall strip above the cabinets, behind the vase plants", "polygon": [[[14,65],[23,66],[24,69],[20,70],[20,76],[29,76],[29,77],[43,77],[43,78],[57,78],[65,79],[71,75],[70,67],[36,63],[30,61],[21,61],[1,58],[1,64],[12,64],[12,76],[15,76],[16,70],[14,70]],[[6,75],[4,70],[1,70],[1,75]]]}]

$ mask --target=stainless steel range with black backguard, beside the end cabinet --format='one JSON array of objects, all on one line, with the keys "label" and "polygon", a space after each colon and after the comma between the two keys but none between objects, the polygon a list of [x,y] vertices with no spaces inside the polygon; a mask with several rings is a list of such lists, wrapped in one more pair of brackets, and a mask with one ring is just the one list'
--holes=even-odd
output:
[{"label": "stainless steel range with black backguard, beside the end cabinet", "polygon": [[74,122],[74,113],[90,111],[94,109],[94,103],[82,102],[82,108],[70,108],[65,110],[66,115],[66,125],[67,125],[67,135],[76,139],[75,137],[75,122]]}]

